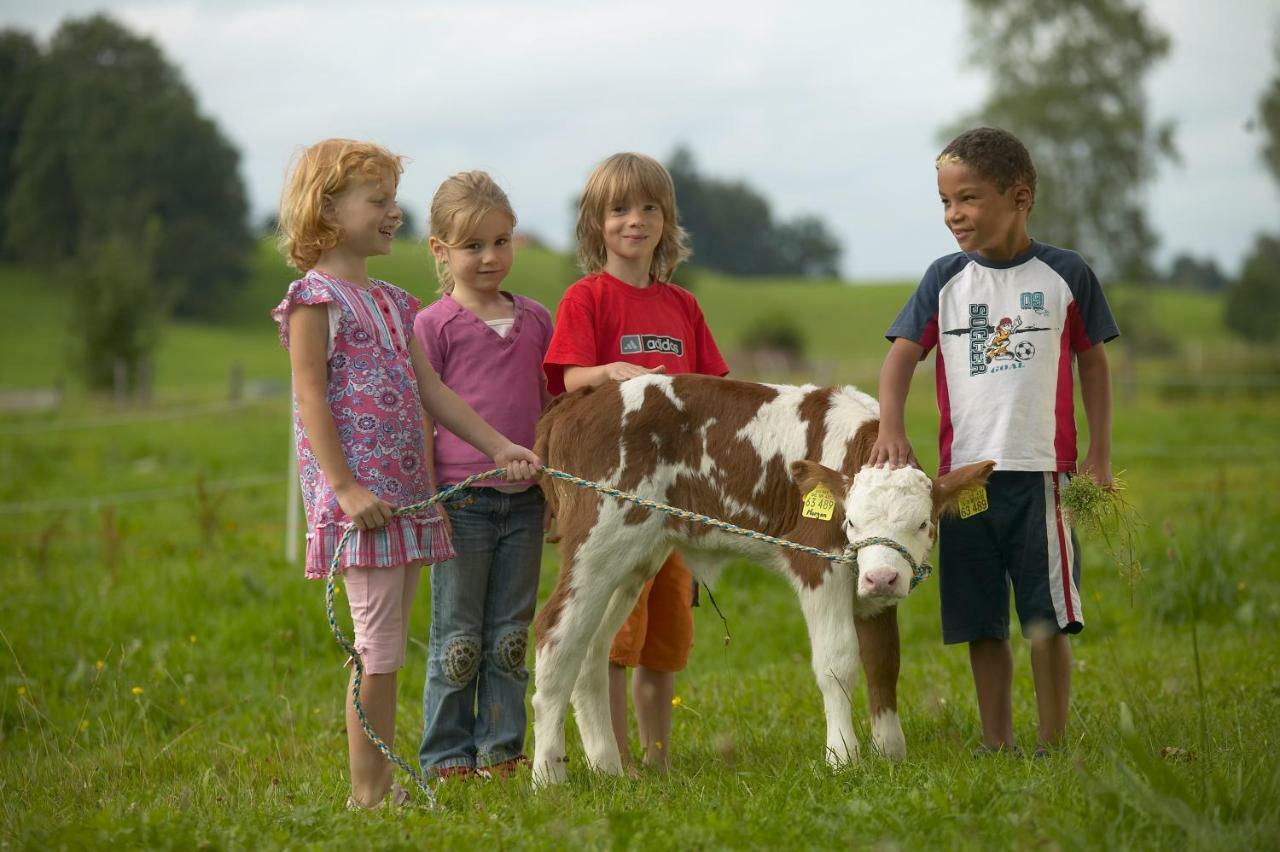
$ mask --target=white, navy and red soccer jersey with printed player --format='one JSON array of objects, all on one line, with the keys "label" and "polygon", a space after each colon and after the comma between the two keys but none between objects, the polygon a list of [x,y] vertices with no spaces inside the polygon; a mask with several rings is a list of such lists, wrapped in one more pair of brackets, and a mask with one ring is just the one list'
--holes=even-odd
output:
[{"label": "white, navy and red soccer jersey with printed player", "polygon": [[1075,469],[1071,358],[1117,336],[1093,270],[1033,242],[1011,261],[957,252],[929,266],[886,336],[937,347],[938,475]]}]

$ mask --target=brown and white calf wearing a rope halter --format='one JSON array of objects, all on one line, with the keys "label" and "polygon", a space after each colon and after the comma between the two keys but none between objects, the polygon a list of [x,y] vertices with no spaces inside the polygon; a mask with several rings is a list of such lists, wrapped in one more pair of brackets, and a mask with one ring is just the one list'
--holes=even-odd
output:
[{"label": "brown and white calf wearing a rope halter", "polygon": [[[549,466],[741,527],[838,554],[881,536],[924,560],[938,512],[984,482],[992,463],[940,480],[916,468],[861,469],[879,406],[852,388],[759,385],[709,376],[649,375],[559,398],[538,425]],[[836,498],[829,521],[804,517],[815,485]],[[735,555],[781,572],[800,596],[813,672],[827,715],[827,761],[858,759],[849,695],[861,656],[872,741],[900,760],[896,604],[911,572],[886,545],[858,554],[859,571],[795,550],[676,519],[568,482],[544,478],[561,531],[561,573],[538,614],[534,780],[564,779],[572,698],[590,765],[620,773],[609,724],[608,654],[644,582],[678,546],[695,577],[714,580]]]}]

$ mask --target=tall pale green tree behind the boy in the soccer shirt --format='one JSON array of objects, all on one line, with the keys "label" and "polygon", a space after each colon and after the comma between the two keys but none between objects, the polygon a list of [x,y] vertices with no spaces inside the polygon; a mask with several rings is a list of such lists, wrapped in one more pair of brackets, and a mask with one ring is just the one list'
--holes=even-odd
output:
[{"label": "tall pale green tree behind the boy in the soccer shirt", "polygon": [[969,23],[991,93],[947,136],[978,124],[1015,133],[1039,173],[1037,238],[1106,275],[1149,278],[1143,189],[1176,152],[1172,127],[1148,116],[1143,81],[1169,37],[1139,0],[969,0]]}]

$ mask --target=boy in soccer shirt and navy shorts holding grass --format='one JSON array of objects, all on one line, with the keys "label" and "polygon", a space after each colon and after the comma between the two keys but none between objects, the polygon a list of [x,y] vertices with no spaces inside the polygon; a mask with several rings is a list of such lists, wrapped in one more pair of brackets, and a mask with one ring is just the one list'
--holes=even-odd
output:
[{"label": "boy in soccer shirt and navy shorts holding grass", "polygon": [[[1009,588],[1030,641],[1037,755],[1061,743],[1070,633],[1084,628],[1068,475],[1111,485],[1111,375],[1101,344],[1119,335],[1097,278],[1075,252],[1027,230],[1036,166],[1011,133],[978,128],[937,159],[943,220],[960,251],[929,266],[886,336],[881,430],[869,464],[915,463],[904,408],[915,365],[937,348],[938,475],[996,462],[986,491],[941,521],[942,638],[966,642],[982,719],[975,753],[1018,751],[1012,732]],[[1071,365],[1089,423],[1076,464]]]}]

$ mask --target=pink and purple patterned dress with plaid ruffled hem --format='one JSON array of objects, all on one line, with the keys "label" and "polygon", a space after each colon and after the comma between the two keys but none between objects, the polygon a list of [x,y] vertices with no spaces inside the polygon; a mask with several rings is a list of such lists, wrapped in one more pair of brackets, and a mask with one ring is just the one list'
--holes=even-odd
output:
[{"label": "pink and purple patterned dress with plaid ruffled hem", "polygon": [[[422,403],[408,351],[421,302],[387,281],[372,280],[362,288],[311,270],[289,285],[271,311],[285,349],[294,304],[328,306],[329,411],[356,481],[394,507],[430,498]],[[323,580],[351,522],[311,452],[297,398],[293,434],[307,509],[306,576]],[[431,507],[394,517],[381,530],[357,530],[347,540],[339,568],[436,563],[453,556],[440,513]]]}]

